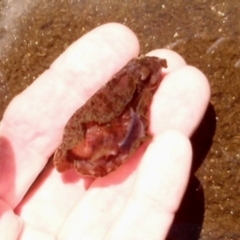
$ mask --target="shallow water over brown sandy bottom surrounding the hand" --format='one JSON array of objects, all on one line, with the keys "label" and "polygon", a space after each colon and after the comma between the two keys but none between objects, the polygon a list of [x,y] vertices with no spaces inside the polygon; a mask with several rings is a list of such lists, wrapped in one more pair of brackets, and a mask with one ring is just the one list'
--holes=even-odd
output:
[{"label": "shallow water over brown sandy bottom surrounding the hand", "polygon": [[212,97],[192,138],[193,174],[169,239],[240,239],[240,2],[23,2],[0,0],[1,114],[64,49],[100,24],[130,27],[142,53],[174,49],[207,75]]}]

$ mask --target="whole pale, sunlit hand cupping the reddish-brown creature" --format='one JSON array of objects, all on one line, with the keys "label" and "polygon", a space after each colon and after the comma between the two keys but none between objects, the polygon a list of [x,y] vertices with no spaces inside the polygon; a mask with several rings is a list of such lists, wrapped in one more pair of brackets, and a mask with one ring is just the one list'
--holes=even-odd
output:
[{"label": "whole pale, sunlit hand cupping the reddish-brown creature", "polygon": [[10,103],[0,125],[1,239],[165,239],[188,183],[188,138],[210,97],[206,77],[177,53],[148,54],[169,66],[151,105],[148,146],[104,178],[45,167],[71,115],[138,54],[132,31],[102,25]]}]

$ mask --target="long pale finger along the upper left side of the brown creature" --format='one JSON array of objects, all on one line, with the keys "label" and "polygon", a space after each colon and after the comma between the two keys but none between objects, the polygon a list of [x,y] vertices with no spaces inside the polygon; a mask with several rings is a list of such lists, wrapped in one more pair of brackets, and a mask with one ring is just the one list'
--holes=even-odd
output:
[{"label": "long pale finger along the upper left side of the brown creature", "polygon": [[70,116],[138,51],[137,38],[128,28],[98,27],[70,46],[11,102],[0,130],[14,156],[4,159],[8,171],[0,170],[0,182],[6,186],[0,187],[3,199],[12,206],[20,201],[59,145]]}]

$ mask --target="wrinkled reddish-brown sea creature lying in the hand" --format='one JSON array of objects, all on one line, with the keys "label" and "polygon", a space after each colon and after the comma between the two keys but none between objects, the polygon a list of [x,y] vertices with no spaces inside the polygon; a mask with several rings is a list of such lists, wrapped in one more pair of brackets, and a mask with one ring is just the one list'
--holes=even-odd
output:
[{"label": "wrinkled reddish-brown sea creature lying in the hand", "polygon": [[133,59],[79,108],[54,153],[56,169],[103,177],[120,167],[150,137],[148,111],[162,67],[165,59]]}]

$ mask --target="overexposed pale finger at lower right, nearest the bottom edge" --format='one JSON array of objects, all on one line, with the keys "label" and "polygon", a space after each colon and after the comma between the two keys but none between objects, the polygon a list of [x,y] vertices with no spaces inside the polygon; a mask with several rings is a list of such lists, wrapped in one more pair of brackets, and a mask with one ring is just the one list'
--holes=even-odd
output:
[{"label": "overexposed pale finger at lower right, nearest the bottom edge", "polygon": [[190,165],[191,145],[184,135],[167,131],[156,137],[143,156],[126,207],[105,239],[165,239]]}]

